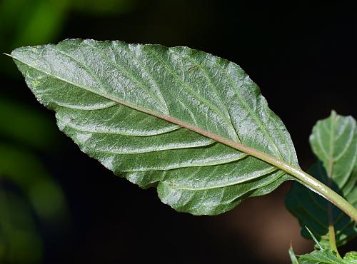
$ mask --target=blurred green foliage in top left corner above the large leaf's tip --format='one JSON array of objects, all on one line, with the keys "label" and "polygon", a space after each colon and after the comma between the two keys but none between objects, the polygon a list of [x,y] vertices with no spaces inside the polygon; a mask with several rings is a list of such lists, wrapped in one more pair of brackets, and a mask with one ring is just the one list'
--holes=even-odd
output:
[{"label": "blurred green foliage in top left corner above the large leaf's tip", "polygon": [[[108,16],[130,11],[135,5],[136,0],[2,0],[0,49],[9,53],[19,46],[56,40],[72,11]],[[0,69],[14,76],[10,64],[9,58],[0,56]]]}]

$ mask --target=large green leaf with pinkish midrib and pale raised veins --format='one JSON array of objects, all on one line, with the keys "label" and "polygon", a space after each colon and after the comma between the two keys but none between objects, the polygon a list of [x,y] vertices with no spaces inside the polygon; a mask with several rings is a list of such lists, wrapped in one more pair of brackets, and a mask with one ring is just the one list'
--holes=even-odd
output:
[{"label": "large green leaf with pinkish midrib and pale raised veins", "polygon": [[[291,179],[290,135],[236,64],[187,47],[72,39],[11,53],[82,151],[178,211],[215,215]],[[241,148],[244,151],[238,151]]]}]

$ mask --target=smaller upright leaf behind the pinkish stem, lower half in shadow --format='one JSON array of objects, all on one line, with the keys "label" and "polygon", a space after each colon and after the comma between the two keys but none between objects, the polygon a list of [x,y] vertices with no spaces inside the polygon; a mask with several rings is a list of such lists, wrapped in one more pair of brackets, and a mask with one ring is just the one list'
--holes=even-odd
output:
[{"label": "smaller upright leaf behind the pinkish stem, lower half in shadow", "polygon": [[[357,129],[351,116],[339,116],[334,111],[329,118],[318,121],[310,137],[311,148],[318,159],[308,172],[357,206]],[[328,181],[328,175],[331,181]],[[286,196],[286,208],[298,218],[301,234],[311,239],[304,226],[316,235],[323,248],[329,248],[328,203],[316,193],[293,183]],[[356,236],[357,226],[345,213],[333,206],[336,245],[345,244]]]}]

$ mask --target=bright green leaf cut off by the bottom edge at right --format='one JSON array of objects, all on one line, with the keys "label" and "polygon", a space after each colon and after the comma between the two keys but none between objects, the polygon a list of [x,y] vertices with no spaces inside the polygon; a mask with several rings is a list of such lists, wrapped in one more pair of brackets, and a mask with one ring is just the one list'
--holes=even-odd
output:
[{"label": "bright green leaf cut off by the bottom edge at right", "polygon": [[347,264],[341,258],[338,258],[336,252],[333,250],[318,250],[308,254],[300,255],[298,258],[300,264]]}]

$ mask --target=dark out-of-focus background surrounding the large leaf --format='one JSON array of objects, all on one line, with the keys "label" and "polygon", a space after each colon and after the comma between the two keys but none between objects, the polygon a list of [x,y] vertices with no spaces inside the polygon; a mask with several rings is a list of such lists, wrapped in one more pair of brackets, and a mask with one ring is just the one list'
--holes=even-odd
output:
[{"label": "dark out-of-focus background surrounding the large leaf", "polygon": [[[190,46],[234,61],[258,83],[270,108],[286,124],[304,169],[315,161],[308,145],[314,123],[326,118],[331,109],[357,116],[357,12],[353,6],[300,1],[286,5],[271,1],[74,2],[0,1],[1,52],[67,38],[118,39]],[[4,220],[3,226],[0,221],[0,263],[276,264],[289,263],[291,241],[298,254],[312,250],[312,244],[300,238],[297,220],[284,208],[290,183],[223,215],[176,213],[160,202],[155,189],[141,190],[81,153],[57,131],[54,113],[37,103],[11,59],[0,57],[0,146],[36,157],[51,186],[59,190],[62,204],[49,205],[57,208],[56,217],[41,218],[41,210],[34,210],[34,202],[19,183],[1,172],[0,162],[0,191],[6,193],[9,209],[4,213],[0,208],[0,218],[28,212],[39,244],[31,248],[34,243],[26,240],[18,251],[14,246],[16,255],[30,255],[14,262],[4,242],[4,223],[11,220]],[[6,106],[8,102],[11,106]],[[0,161],[8,158],[7,153],[0,148]],[[31,181],[26,162],[14,157],[14,168],[23,166],[21,176]],[[46,190],[41,190],[40,200],[46,201]],[[19,209],[12,196],[21,200]],[[353,249],[356,240],[341,252]]]}]

